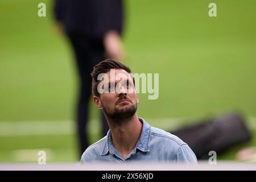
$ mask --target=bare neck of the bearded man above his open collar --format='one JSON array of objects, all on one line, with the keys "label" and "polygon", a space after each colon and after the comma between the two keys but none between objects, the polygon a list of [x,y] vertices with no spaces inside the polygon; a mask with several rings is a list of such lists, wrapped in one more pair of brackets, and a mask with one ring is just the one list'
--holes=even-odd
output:
[{"label": "bare neck of the bearded man above his open collar", "polygon": [[112,142],[115,149],[125,159],[127,155],[136,146],[139,137],[141,137],[142,123],[139,121],[138,115],[135,113],[129,121],[113,124],[109,121],[109,127],[112,133]]}]

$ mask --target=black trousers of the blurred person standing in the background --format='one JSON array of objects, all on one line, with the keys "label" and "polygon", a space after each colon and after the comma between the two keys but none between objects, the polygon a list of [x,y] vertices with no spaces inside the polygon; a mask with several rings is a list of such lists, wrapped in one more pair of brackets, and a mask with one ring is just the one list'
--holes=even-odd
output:
[{"label": "black trousers of the blurred person standing in the background", "polygon": [[[79,73],[79,98],[77,101],[77,131],[79,135],[80,157],[85,149],[89,146],[88,140],[88,111],[89,101],[92,99],[92,77],[94,65],[105,59],[104,45],[102,39],[93,39],[85,35],[69,34],[75,56],[76,65]],[[102,136],[108,133],[109,126],[105,115],[101,114]]]}]

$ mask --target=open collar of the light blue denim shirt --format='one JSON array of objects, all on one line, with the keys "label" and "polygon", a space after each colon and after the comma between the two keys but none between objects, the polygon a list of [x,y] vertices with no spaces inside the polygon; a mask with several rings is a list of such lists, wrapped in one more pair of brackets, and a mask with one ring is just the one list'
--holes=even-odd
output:
[{"label": "open collar of the light blue denim shirt", "polygon": [[[139,140],[136,144],[136,147],[138,150],[141,150],[142,152],[149,152],[149,142],[150,142],[150,134],[151,134],[151,126],[148,125],[146,121],[144,121],[143,118],[139,118],[139,121],[143,123],[142,127],[142,132],[141,132],[141,137],[139,137]],[[101,155],[106,155],[108,152],[110,154],[115,154],[115,148],[112,143],[112,138],[111,138],[111,131],[108,131],[108,134],[106,135],[106,140],[102,148]]]}]

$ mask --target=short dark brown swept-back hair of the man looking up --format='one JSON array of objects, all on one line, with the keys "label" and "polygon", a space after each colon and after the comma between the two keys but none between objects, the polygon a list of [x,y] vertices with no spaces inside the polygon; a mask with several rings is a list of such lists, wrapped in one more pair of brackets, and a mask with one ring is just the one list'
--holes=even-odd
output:
[{"label": "short dark brown swept-back hair of the man looking up", "polygon": [[[92,76],[92,94],[93,96],[100,96],[100,93],[98,93],[98,84],[100,83],[100,80],[98,80],[98,75],[100,73],[106,73],[109,72],[110,69],[123,69],[128,73],[131,73],[131,69],[127,67],[125,64],[121,63],[118,60],[115,59],[106,59],[104,61],[101,61],[99,64],[96,64],[93,67],[92,73],[90,75]],[[133,84],[135,85],[135,81],[133,78]]]}]

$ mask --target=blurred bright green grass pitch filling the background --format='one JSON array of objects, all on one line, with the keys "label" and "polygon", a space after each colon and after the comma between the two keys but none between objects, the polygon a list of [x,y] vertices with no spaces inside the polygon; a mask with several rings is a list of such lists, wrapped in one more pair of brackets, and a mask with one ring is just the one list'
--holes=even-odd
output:
[{"label": "blurred bright green grass pitch filling the background", "polygon": [[[38,16],[40,2],[46,17]],[[125,63],[136,73],[159,73],[158,100],[139,94],[138,114],[152,126],[167,130],[240,111],[253,139],[218,155],[234,160],[242,147],[256,146],[256,1],[214,0],[217,17],[208,16],[210,2],[126,0]],[[0,1],[0,131],[10,130],[6,123],[58,121],[56,130],[65,125],[70,132],[0,135],[0,162],[22,161],[16,151],[28,149],[51,151],[52,162],[79,160],[75,61],[68,40],[55,31],[52,3]],[[96,142],[94,106],[90,118],[90,140]]]}]

